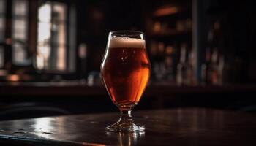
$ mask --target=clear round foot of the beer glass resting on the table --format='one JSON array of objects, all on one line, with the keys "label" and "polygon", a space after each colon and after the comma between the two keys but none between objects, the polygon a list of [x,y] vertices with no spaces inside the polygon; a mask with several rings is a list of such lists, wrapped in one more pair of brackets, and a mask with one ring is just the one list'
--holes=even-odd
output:
[{"label": "clear round foot of the beer glass resting on the table", "polygon": [[141,132],[145,131],[144,126],[137,126],[135,123],[120,123],[117,122],[112,126],[106,127],[106,131],[110,132]]}]

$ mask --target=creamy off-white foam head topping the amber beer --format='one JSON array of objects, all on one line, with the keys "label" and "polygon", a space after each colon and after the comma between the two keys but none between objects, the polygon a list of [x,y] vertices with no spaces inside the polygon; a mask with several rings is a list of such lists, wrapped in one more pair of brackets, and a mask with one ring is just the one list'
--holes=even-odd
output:
[{"label": "creamy off-white foam head topping the amber beer", "polygon": [[109,47],[126,47],[126,48],[138,48],[145,49],[146,43],[143,39],[135,39],[129,37],[114,37],[110,39]]}]

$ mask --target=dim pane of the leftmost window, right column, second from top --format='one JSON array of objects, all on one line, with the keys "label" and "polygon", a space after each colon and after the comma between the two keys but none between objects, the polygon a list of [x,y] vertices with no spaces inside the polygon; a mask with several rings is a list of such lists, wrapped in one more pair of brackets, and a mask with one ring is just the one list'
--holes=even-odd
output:
[{"label": "dim pane of the leftmost window, right column, second from top", "polygon": [[26,40],[27,37],[27,20],[26,19],[15,19],[13,22],[12,29],[13,39]]}]

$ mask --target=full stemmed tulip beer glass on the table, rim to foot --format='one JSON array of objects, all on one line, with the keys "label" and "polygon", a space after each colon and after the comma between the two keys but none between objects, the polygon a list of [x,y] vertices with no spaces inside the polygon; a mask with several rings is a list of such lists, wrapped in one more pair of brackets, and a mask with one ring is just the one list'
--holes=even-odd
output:
[{"label": "full stemmed tulip beer glass on the table, rim to foot", "polygon": [[101,65],[102,80],[121,112],[117,123],[106,131],[144,131],[135,125],[132,109],[140,101],[150,76],[144,34],[140,31],[112,31]]}]

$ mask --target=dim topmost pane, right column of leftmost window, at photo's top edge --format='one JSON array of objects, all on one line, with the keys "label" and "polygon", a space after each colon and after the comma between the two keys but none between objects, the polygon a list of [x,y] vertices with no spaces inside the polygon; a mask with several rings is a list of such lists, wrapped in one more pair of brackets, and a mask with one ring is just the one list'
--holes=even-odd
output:
[{"label": "dim topmost pane, right column of leftmost window, at photo's top edge", "polygon": [[13,0],[12,12],[14,15],[26,16],[28,12],[28,1],[26,0]]}]

